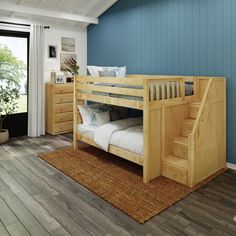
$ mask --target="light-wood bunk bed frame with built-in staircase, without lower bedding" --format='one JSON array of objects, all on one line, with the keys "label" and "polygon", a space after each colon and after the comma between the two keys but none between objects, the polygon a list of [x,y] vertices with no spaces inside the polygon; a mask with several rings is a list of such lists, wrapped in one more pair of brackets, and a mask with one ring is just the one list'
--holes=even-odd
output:
[{"label": "light-wood bunk bed frame with built-in staircase, without lower bedding", "polygon": [[[120,87],[111,87],[114,83]],[[193,93],[186,96],[189,83]],[[78,141],[98,147],[78,133],[79,104],[93,101],[143,110],[143,155],[112,145],[108,151],[143,166],[145,183],[162,175],[194,187],[226,166],[225,91],[225,78],[219,77],[76,76],[74,148]]]}]

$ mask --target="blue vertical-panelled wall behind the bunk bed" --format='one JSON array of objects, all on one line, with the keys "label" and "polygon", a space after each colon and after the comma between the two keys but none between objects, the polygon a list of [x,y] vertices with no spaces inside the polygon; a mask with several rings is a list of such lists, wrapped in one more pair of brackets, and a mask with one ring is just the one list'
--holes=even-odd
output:
[{"label": "blue vertical-panelled wall behind the bunk bed", "polygon": [[119,0],[88,28],[88,64],[227,77],[227,160],[236,164],[236,0]]}]

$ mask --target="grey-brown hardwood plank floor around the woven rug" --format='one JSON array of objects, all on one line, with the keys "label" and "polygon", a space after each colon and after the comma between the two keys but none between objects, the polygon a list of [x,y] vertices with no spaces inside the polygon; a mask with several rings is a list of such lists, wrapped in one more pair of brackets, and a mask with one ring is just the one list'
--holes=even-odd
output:
[{"label": "grey-brown hardwood plank floor around the woven rug", "polygon": [[140,225],[35,156],[71,140],[22,137],[0,146],[0,236],[236,235],[236,171]]}]

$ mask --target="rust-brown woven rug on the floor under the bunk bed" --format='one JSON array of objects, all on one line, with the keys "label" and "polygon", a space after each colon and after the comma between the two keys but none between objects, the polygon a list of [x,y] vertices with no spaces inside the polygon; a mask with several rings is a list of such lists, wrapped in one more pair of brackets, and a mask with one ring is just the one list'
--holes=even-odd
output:
[{"label": "rust-brown woven rug on the floor under the bunk bed", "polygon": [[92,146],[39,154],[139,223],[144,223],[193,190],[165,177],[143,183],[142,167]]}]

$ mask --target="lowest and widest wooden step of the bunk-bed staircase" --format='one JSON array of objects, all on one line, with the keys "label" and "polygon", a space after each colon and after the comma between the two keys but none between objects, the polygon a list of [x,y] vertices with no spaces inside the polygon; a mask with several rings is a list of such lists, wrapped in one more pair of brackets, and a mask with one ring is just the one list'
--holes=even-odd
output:
[{"label": "lowest and widest wooden step of the bunk-bed staircase", "polygon": [[176,156],[164,158],[162,175],[181,184],[187,184],[188,161]]}]

